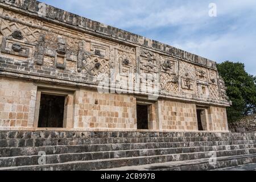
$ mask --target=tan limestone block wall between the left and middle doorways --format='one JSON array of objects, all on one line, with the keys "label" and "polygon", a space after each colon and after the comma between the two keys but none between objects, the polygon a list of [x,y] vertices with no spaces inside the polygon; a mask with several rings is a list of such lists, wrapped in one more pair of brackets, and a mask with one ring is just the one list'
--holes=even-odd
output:
[{"label": "tan limestone block wall between the left and middle doorways", "polygon": [[137,129],[136,99],[125,94],[76,92],[75,128]]}]

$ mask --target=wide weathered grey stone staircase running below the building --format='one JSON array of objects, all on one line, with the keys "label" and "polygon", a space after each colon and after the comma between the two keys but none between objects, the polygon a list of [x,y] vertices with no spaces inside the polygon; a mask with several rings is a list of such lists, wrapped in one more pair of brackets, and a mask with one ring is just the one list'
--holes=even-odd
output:
[{"label": "wide weathered grey stone staircase running below the building", "polygon": [[[216,165],[209,163],[213,151]],[[247,163],[256,163],[256,133],[0,131],[0,170],[209,170]]]}]

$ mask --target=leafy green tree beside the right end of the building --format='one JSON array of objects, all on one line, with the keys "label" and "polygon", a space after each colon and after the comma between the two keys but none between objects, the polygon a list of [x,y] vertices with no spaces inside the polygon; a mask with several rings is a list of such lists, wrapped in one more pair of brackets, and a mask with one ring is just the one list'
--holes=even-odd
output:
[{"label": "leafy green tree beside the right end of the building", "polygon": [[228,88],[226,94],[232,101],[227,109],[228,121],[235,122],[256,111],[256,77],[245,71],[243,63],[225,61],[217,64],[218,72]]}]

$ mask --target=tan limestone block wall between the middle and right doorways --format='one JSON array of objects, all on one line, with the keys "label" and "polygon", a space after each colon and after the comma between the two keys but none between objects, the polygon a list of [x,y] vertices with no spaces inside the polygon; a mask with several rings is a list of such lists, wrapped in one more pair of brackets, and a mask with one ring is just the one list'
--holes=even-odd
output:
[{"label": "tan limestone block wall between the middle and right doorways", "polygon": [[159,123],[163,130],[197,130],[196,105],[160,100]]}]

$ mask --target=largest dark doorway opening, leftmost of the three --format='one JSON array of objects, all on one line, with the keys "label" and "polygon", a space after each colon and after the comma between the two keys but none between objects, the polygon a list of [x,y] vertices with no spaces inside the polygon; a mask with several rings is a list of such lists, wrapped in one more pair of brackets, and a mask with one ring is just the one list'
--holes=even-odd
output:
[{"label": "largest dark doorway opening, leftmost of the three", "polygon": [[41,94],[38,127],[63,127],[64,96]]}]

